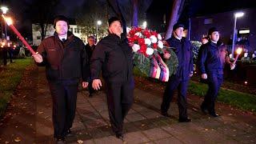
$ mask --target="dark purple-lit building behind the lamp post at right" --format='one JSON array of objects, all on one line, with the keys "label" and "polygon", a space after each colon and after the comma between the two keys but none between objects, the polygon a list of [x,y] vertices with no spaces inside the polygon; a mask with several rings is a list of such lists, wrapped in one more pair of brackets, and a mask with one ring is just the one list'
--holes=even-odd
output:
[{"label": "dark purple-lit building behind the lamp post at right", "polygon": [[235,44],[241,42],[246,45],[249,52],[253,52],[256,50],[256,9],[235,10],[191,18],[190,40],[201,41],[202,37],[207,35],[210,27],[215,26],[220,31],[222,42],[232,45],[234,13],[238,11],[243,12],[244,15],[237,18]]}]

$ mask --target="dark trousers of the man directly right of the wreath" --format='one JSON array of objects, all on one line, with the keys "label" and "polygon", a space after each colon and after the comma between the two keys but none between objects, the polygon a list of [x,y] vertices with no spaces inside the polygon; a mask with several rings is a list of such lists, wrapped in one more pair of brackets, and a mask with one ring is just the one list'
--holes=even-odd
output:
[{"label": "dark trousers of the man directly right of the wreath", "polygon": [[178,89],[178,111],[179,118],[187,118],[186,91],[189,81],[181,81],[176,77],[171,77],[166,85],[163,94],[161,112],[167,113],[170,108],[170,102],[174,97],[174,90]]}]

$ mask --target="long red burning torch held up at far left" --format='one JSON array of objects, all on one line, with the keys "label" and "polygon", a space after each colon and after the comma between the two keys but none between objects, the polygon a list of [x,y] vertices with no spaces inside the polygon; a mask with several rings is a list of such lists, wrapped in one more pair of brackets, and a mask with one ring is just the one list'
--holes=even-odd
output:
[{"label": "long red burning torch held up at far left", "polygon": [[18,30],[14,27],[12,20],[10,18],[6,18],[4,14],[2,14],[2,18],[4,18],[7,25],[10,26],[10,29],[14,31],[14,33],[18,36],[22,43],[30,50],[30,53],[32,53],[32,55],[36,54],[32,47],[28,44],[28,42],[26,42],[25,38],[22,37],[22,34],[20,34]]}]

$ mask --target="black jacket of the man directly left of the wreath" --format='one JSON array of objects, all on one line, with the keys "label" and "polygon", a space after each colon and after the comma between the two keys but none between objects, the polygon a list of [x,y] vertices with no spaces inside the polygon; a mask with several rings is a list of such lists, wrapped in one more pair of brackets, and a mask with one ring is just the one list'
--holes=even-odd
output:
[{"label": "black jacket of the man directly left of the wreath", "polygon": [[102,76],[106,82],[127,82],[133,78],[132,49],[116,34],[109,34],[98,42],[90,58],[92,79]]}]

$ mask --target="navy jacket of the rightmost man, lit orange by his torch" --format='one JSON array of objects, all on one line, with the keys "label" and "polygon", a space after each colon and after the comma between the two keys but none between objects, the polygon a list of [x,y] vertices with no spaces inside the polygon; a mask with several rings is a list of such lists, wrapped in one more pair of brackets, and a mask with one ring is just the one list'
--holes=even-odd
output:
[{"label": "navy jacket of the rightmost man, lit orange by his torch", "polygon": [[223,74],[226,61],[226,47],[214,42],[202,45],[202,54],[198,59],[199,70],[202,74]]}]

